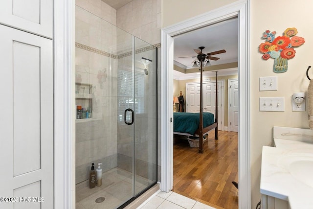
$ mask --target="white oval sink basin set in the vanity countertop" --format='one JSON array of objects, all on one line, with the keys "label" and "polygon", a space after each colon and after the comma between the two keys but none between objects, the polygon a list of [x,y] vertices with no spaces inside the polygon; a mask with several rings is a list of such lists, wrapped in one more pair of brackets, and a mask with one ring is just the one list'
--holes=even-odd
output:
[{"label": "white oval sink basin set in the vanity countertop", "polygon": [[277,163],[289,171],[295,179],[313,187],[313,155],[284,156]]}]

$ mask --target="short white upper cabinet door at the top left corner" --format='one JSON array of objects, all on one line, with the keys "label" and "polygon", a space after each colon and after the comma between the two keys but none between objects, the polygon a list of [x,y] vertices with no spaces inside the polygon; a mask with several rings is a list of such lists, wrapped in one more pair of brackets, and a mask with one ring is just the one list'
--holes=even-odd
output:
[{"label": "short white upper cabinet door at the top left corner", "polygon": [[0,0],[0,23],[52,38],[53,0]]}]

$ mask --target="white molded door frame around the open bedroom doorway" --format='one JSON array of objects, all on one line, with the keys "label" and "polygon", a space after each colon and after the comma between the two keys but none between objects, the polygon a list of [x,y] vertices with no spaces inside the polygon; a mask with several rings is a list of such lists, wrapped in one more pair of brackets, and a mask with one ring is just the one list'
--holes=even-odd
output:
[{"label": "white molded door frame around the open bedroom doorway", "polygon": [[161,190],[173,188],[173,36],[238,17],[238,181],[239,208],[251,208],[249,0],[226,6],[161,29]]}]

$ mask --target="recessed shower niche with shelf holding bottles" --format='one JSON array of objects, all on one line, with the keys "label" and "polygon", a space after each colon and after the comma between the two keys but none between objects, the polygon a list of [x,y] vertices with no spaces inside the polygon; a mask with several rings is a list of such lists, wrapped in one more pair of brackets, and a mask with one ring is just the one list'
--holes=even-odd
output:
[{"label": "recessed shower niche with shelf holding bottles", "polygon": [[88,120],[92,118],[92,100],[94,97],[94,87],[92,84],[88,83],[76,83],[75,84],[75,103],[76,106],[81,106],[82,109],[89,111],[89,117],[86,118],[85,116],[81,116],[82,118],[77,119],[78,120]]}]

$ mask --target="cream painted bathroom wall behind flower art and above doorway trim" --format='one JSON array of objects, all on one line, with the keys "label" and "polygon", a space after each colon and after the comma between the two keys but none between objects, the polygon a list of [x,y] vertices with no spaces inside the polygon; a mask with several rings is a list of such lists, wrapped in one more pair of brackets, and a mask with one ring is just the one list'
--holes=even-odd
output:
[{"label": "cream painted bathroom wall behind flower art and above doorway trim", "polygon": [[[188,0],[162,1],[162,26],[189,19],[201,13],[234,2],[235,0],[213,1],[199,0],[201,6],[193,10],[195,4]],[[273,126],[308,128],[308,113],[291,111],[291,95],[296,92],[307,92],[309,80],[306,70],[312,65],[311,46],[313,44],[313,19],[308,18],[313,8],[313,1],[302,0],[250,0],[250,167],[251,167],[251,208],[260,201],[260,172],[263,145],[272,145]],[[217,4],[215,4],[217,3]],[[173,8],[179,11],[173,15]],[[269,12],[270,10],[270,12]],[[253,24],[252,24],[253,23]],[[262,33],[265,30],[277,31],[282,35],[288,27],[296,27],[298,36],[304,37],[306,43],[296,48],[296,55],[288,61],[288,71],[277,74],[272,71],[273,59],[262,59],[258,46],[264,43]],[[313,71],[311,71],[312,75]],[[259,77],[277,76],[278,91],[259,92]],[[313,77],[313,75],[312,75]],[[284,96],[285,112],[260,112],[259,97]]]}]

